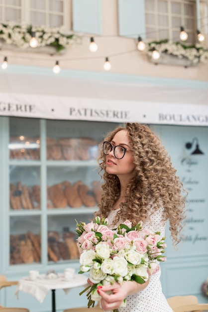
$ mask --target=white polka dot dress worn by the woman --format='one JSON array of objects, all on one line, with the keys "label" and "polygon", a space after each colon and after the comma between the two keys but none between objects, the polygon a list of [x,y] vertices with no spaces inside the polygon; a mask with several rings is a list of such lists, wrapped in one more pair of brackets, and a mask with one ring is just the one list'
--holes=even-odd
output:
[{"label": "white polka dot dress worn by the woman", "polygon": [[[111,227],[118,210],[112,210],[108,214],[108,226]],[[153,232],[160,231],[161,237],[165,236],[165,224],[162,222],[162,211],[156,211],[150,217],[150,221],[143,224],[144,229]],[[121,223],[121,221],[119,221]],[[115,227],[115,226],[114,226]],[[150,276],[148,286],[141,292],[127,296],[126,307],[119,308],[119,312],[173,312],[162,293],[160,282],[161,271]]]}]

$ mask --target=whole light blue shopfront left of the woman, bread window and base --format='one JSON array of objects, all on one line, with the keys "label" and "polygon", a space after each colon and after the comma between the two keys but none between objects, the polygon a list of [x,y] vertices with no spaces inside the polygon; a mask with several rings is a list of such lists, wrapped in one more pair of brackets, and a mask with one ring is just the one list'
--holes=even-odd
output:
[{"label": "whole light blue shopfront left of the woman, bread window and base", "polygon": [[[114,126],[0,117],[0,274],[8,280],[32,269],[78,272],[76,220],[89,222],[97,210],[99,144]],[[81,290],[57,290],[57,311],[85,306]],[[1,290],[0,304],[51,311],[50,293],[40,304],[14,292],[15,286]]]}]

